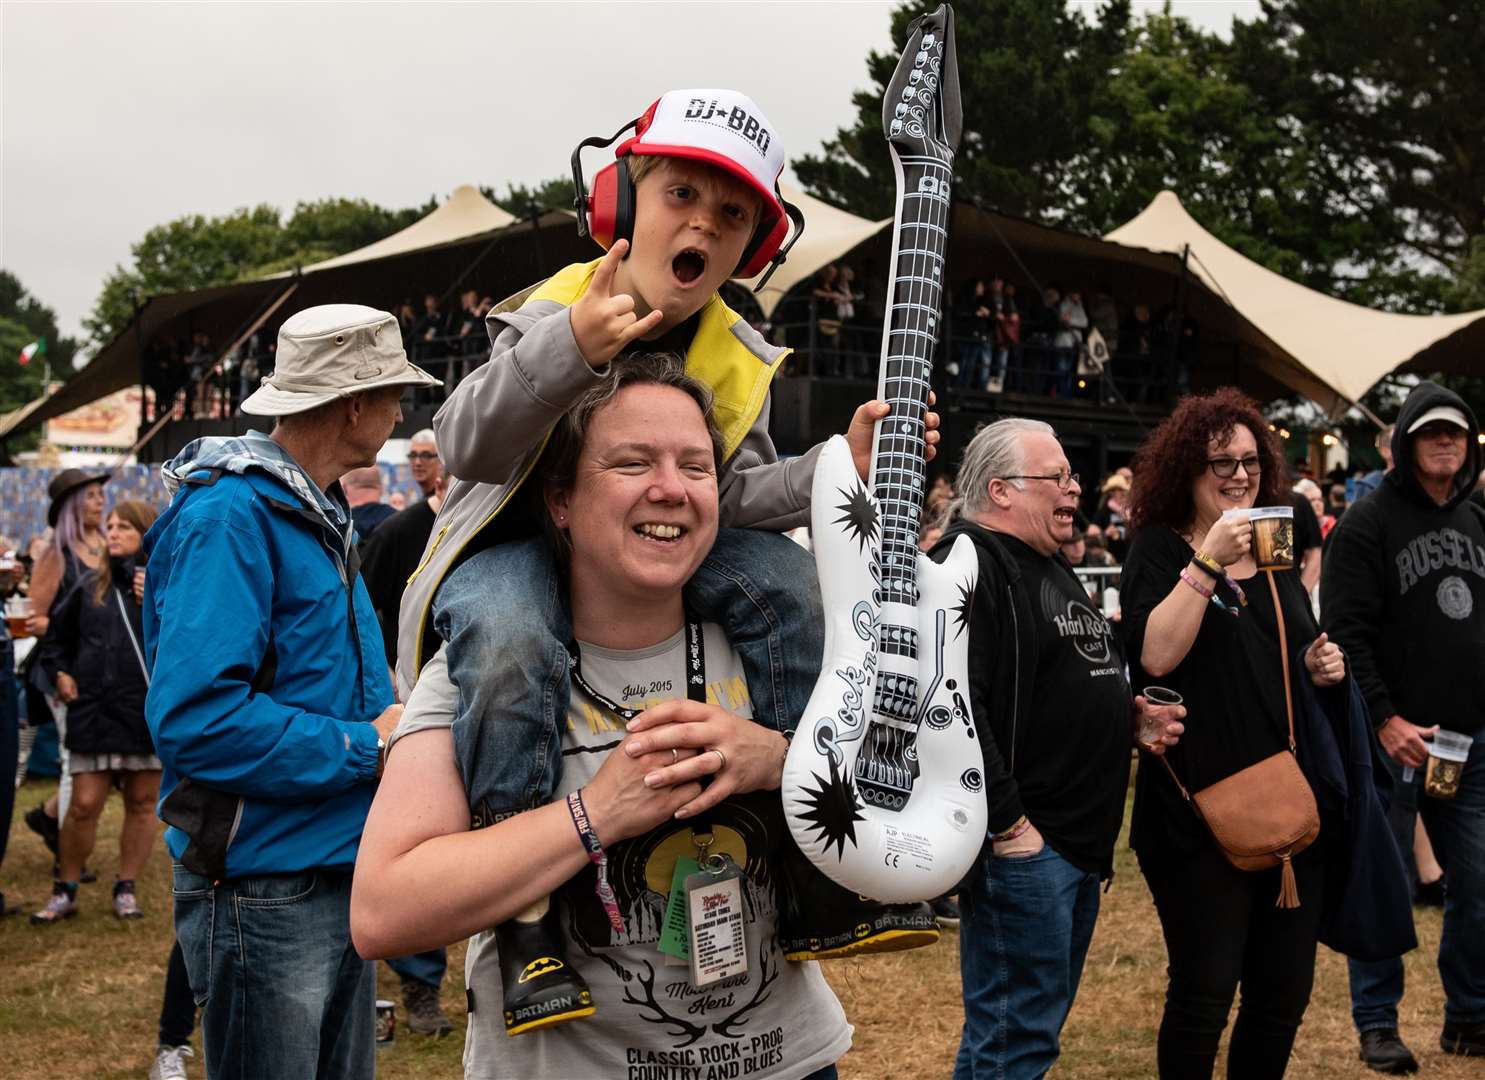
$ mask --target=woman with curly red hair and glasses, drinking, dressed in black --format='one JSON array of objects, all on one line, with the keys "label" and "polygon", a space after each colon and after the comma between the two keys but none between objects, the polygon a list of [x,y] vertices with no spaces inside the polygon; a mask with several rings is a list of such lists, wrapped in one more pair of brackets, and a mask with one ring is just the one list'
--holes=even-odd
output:
[{"label": "woman with curly red hair and glasses, drinking, dressed in black", "polygon": [[[1329,686],[1344,677],[1342,655],[1319,634],[1298,575],[1274,575],[1276,611],[1247,515],[1224,517],[1289,505],[1286,492],[1277,440],[1231,388],[1182,400],[1135,459],[1135,538],[1120,596],[1126,655],[1136,688],[1160,683],[1185,698],[1187,734],[1167,761],[1187,790],[1287,749],[1277,619],[1295,652],[1293,679]],[[1130,844],[1170,961],[1160,1076],[1212,1076],[1241,985],[1228,1076],[1282,1077],[1314,980],[1319,848],[1292,860],[1299,906],[1276,906],[1280,871],[1234,869],[1161,768],[1139,770]]]}]

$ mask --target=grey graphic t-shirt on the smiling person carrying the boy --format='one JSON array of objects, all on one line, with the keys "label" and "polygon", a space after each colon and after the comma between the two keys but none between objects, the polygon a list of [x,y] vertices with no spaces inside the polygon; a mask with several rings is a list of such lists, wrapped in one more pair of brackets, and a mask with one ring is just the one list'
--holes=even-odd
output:
[{"label": "grey graphic t-shirt on the smiling person carrying the boy", "polygon": [[[707,701],[750,718],[737,654],[720,627],[707,624],[702,634]],[[685,631],[647,649],[579,649],[585,680],[628,709],[686,697]],[[440,655],[420,676],[396,735],[451,722],[448,691]],[[446,715],[448,719],[441,719]],[[622,737],[624,722],[573,685],[560,795],[584,786]],[[689,966],[656,948],[676,860],[696,856],[691,824],[667,824],[613,844],[609,882],[624,915],[624,934],[613,930],[594,896],[591,866],[554,896],[567,957],[593,989],[597,1012],[508,1037],[495,934],[475,934],[465,961],[475,1001],[465,1041],[469,1080],[794,1080],[849,1049],[851,1027],[818,964],[789,963],[778,949],[775,869],[769,857],[786,827],[778,792],[728,799],[707,823],[714,838],[711,851],[726,853],[745,874],[747,973],[696,989]]]}]

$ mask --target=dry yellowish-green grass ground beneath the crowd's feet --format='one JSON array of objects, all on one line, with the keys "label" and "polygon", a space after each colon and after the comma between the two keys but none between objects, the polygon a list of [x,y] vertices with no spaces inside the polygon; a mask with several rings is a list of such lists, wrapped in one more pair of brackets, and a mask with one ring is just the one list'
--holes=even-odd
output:
[{"label": "dry yellowish-green grass ground beneath the crowd's feet", "polygon": [[[21,813],[50,792],[30,781],[18,792],[0,888],[33,909],[50,888],[50,856],[22,823]],[[117,868],[122,807],[110,802],[91,860],[95,885],[83,885],[82,912],[59,927],[33,927],[25,918],[0,921],[0,1077],[7,1080],[110,1080],[143,1077],[154,1052],[165,961],[171,948],[169,862],[163,845],[138,882],[147,918],[119,923],[108,909],[108,882]],[[1118,874],[1103,897],[1097,933],[1077,1006],[1063,1031],[1056,1077],[1123,1080],[1155,1073],[1155,1029],[1164,995],[1164,946],[1149,893],[1120,841]],[[1481,1080],[1479,1059],[1439,1050],[1443,994],[1433,957],[1437,911],[1420,911],[1421,948],[1408,957],[1402,1032],[1429,1080]],[[958,1043],[959,969],[955,934],[939,946],[891,957],[827,966],[855,1046],[842,1061],[851,1080],[947,1077]],[[463,1025],[463,946],[450,949],[444,1009]],[[380,966],[380,995],[398,1001],[396,977]],[[1356,1058],[1345,963],[1322,949],[1314,1000],[1295,1046],[1289,1076],[1371,1077]],[[399,1028],[396,1043],[377,1055],[379,1076],[394,1080],[459,1077],[462,1038],[417,1038]],[[199,1035],[196,1040],[199,1049]],[[199,1062],[192,1077],[203,1076]],[[1221,1068],[1219,1068],[1221,1074]],[[1236,1080],[1236,1079],[1234,1079]]]}]

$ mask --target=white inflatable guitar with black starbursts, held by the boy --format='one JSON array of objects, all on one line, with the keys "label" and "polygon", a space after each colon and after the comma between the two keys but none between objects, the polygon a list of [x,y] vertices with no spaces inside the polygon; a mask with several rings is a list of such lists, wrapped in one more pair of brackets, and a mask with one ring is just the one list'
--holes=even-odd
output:
[{"label": "white inflatable guitar with black starbursts, held by the boy", "polygon": [[913,22],[882,105],[897,171],[894,279],[872,477],[842,437],[820,455],[812,532],[826,654],[789,758],[784,816],[827,876],[888,902],[946,893],[985,839],[985,780],[970,716],[970,597],[961,536],[939,565],[918,551],[924,416],[943,296],[959,77],[953,10]]}]

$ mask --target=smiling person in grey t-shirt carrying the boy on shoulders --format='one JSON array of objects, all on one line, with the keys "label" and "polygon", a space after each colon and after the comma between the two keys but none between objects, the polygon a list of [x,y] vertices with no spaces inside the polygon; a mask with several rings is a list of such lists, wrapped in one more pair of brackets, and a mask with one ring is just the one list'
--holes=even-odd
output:
[{"label": "smiling person in grey t-shirt carrying the boy on shoulders", "polygon": [[[460,775],[456,743],[512,747],[508,723],[483,737],[483,718],[453,719],[462,694],[492,694],[448,677],[457,634],[391,740],[352,933],[365,955],[474,934],[468,1077],[622,1076],[652,1061],[833,1076],[849,1046],[818,966],[781,948],[786,738],[753,719],[722,625],[686,606],[717,539],[710,410],[679,357],[640,354],[552,434],[539,495],[573,630],[552,801],[493,823],[477,808],[471,827],[480,781]],[[481,679],[499,698],[497,673]],[[489,712],[502,722],[509,707]]]}]

